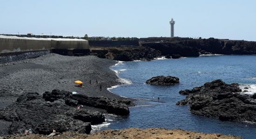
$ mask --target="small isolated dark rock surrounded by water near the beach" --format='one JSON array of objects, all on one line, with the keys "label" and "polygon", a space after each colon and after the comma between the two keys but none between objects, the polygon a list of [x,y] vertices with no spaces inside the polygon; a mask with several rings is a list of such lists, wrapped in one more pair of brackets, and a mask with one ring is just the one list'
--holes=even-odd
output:
[{"label": "small isolated dark rock surrounded by water near the beach", "polygon": [[166,86],[166,85],[174,85],[180,83],[179,78],[173,77],[173,76],[155,76],[151,79],[148,79],[146,83],[152,84],[152,85],[160,85],[160,86]]}]

